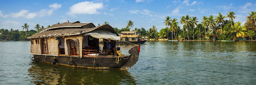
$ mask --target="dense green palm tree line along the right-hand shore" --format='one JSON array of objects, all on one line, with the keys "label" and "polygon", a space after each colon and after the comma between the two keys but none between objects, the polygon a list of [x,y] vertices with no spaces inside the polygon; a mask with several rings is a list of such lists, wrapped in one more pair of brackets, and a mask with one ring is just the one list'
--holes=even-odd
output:
[{"label": "dense green palm tree line along the right-hand shore", "polygon": [[[149,38],[163,38],[171,40],[234,40],[236,38],[247,38],[256,40],[256,12],[249,13],[246,16],[246,22],[241,26],[241,22],[234,22],[236,18],[234,12],[229,12],[227,16],[219,13],[218,16],[203,16],[202,19],[182,16],[178,19],[171,19],[166,16],[163,22],[165,28],[157,32],[156,26],[148,30],[145,28],[135,28],[132,30],[134,23],[129,20],[127,26],[121,29],[114,28],[119,34],[121,31],[138,31],[142,36]],[[224,20],[227,19],[227,20]],[[179,26],[179,23],[183,26]]]}]

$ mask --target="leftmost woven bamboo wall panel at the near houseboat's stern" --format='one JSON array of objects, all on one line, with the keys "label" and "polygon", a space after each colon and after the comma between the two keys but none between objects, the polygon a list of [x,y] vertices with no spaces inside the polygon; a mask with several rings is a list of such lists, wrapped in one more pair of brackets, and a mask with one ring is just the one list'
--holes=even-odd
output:
[{"label": "leftmost woven bamboo wall panel at the near houseboat's stern", "polygon": [[32,42],[30,43],[30,52],[31,53],[35,53],[35,54],[41,54],[41,45],[39,43],[39,39],[37,39],[37,43],[36,43],[36,39],[31,39]]}]

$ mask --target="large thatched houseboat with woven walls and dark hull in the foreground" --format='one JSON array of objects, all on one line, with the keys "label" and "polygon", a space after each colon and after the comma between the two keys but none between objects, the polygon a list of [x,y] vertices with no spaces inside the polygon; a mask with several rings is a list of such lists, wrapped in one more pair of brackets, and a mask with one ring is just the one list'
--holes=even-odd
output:
[{"label": "large thatched houseboat with woven walls and dark hull in the foreground", "polygon": [[128,70],[139,58],[139,45],[121,54],[119,35],[109,25],[65,22],[42,29],[28,37],[31,58],[36,62],[62,66]]}]

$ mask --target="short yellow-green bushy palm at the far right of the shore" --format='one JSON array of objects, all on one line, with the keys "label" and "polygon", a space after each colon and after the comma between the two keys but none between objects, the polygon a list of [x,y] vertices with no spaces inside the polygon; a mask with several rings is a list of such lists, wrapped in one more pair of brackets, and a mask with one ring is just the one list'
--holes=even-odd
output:
[{"label": "short yellow-green bushy palm at the far right of the shore", "polygon": [[241,25],[241,22],[236,22],[234,26],[231,26],[232,28],[234,28],[234,30],[231,32],[236,33],[236,37],[244,38],[245,34],[247,34],[246,28],[245,28],[245,25],[243,25],[242,27],[240,25]]}]

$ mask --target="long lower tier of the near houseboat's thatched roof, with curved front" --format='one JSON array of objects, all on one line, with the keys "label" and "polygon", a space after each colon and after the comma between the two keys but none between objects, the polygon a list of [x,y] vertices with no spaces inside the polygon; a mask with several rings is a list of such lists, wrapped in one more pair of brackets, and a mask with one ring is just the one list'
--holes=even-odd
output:
[{"label": "long lower tier of the near houseboat's thatched roof, with curved front", "polygon": [[118,34],[115,32],[115,30],[111,26],[101,25],[101,26],[93,27],[93,28],[64,28],[64,29],[44,31],[41,33],[36,33],[34,35],[31,35],[28,38],[31,39],[31,38],[39,38],[39,37],[80,35],[80,34],[91,32],[93,30],[111,31],[118,36]]}]

